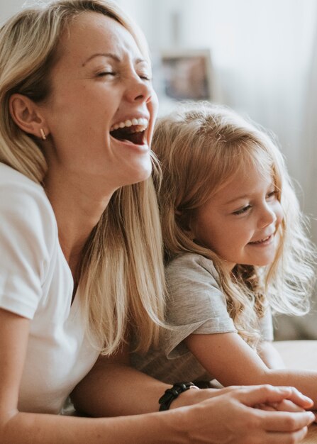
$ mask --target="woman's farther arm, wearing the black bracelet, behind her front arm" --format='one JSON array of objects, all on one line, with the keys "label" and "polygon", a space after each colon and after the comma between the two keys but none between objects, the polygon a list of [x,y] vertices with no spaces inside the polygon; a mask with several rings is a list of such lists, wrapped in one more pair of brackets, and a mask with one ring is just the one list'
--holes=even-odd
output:
[{"label": "woman's farther arm, wearing the black bracelet, behind her front arm", "polygon": [[[87,377],[72,392],[71,398],[77,411],[89,416],[122,416],[158,411],[158,400],[170,385],[157,381],[148,374],[129,365],[128,346],[111,357],[99,357]],[[190,389],[172,401],[171,409],[189,406],[206,399],[228,394],[236,387],[226,389]],[[292,402],[283,404],[285,411],[298,411],[296,406],[307,409],[311,401],[299,392],[292,392]],[[111,401],[109,401],[111,400]],[[296,404],[296,405],[295,405]]]}]

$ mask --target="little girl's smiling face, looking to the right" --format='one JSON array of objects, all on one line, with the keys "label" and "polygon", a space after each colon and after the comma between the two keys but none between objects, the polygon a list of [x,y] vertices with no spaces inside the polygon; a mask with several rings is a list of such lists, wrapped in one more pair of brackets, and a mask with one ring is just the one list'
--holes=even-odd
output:
[{"label": "little girl's smiling face, looking to the right", "polygon": [[226,261],[228,270],[237,264],[263,266],[274,260],[282,218],[272,176],[263,177],[252,166],[196,210],[191,231]]}]

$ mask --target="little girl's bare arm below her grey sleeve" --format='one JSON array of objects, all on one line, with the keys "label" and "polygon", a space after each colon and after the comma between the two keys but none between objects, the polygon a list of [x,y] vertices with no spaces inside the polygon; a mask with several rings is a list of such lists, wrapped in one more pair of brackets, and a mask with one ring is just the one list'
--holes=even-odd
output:
[{"label": "little girl's bare arm below her grey sleeve", "polygon": [[317,404],[317,372],[269,369],[238,333],[191,334],[187,347],[224,386],[272,384],[294,386]]}]

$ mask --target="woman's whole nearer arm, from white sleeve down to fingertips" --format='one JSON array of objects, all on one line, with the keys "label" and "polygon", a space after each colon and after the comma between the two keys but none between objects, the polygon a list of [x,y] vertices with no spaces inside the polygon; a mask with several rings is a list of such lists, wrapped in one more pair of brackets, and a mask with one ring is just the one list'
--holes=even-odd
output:
[{"label": "woman's whole nearer arm, from white sleeve down to fingertips", "polygon": [[[250,444],[299,443],[306,434],[306,426],[313,419],[308,412],[291,414],[250,408],[262,402],[294,399],[291,389],[274,387],[232,390],[191,407],[119,418],[75,418],[19,412],[18,389],[26,356],[29,323],[26,318],[0,309],[1,443],[162,444],[194,441],[221,444],[227,443],[228,437],[235,442]],[[116,379],[116,375],[113,375],[113,379]],[[130,381],[131,386],[133,382]],[[101,384],[99,389],[102,389]],[[121,396],[120,393],[118,396]],[[126,397],[121,399],[123,404]],[[111,401],[113,399],[106,399],[105,402]]]}]

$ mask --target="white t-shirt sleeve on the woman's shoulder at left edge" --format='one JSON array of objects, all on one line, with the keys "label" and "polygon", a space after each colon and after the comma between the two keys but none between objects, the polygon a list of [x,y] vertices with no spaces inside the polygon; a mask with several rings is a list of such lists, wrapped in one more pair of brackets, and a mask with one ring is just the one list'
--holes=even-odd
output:
[{"label": "white t-shirt sleeve on the woman's shoulder at left edge", "polygon": [[0,184],[0,307],[33,318],[48,270],[54,224],[43,189],[21,182]]}]

